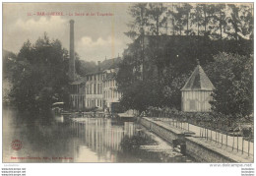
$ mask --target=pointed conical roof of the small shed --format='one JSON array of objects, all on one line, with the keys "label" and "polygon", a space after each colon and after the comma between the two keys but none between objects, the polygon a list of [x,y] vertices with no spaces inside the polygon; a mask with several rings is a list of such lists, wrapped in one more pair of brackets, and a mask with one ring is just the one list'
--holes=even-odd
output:
[{"label": "pointed conical roof of the small shed", "polygon": [[197,65],[181,90],[213,90],[215,87],[200,65]]}]

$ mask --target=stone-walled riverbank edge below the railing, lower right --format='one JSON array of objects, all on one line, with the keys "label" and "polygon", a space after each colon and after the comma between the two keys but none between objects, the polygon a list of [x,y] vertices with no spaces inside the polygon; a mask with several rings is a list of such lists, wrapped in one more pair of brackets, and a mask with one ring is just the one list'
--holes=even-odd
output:
[{"label": "stone-walled riverbank edge below the railing, lower right", "polygon": [[185,145],[186,154],[198,162],[253,162],[253,155],[199,138],[193,131],[178,129],[147,117],[139,118],[139,122],[168,143]]}]

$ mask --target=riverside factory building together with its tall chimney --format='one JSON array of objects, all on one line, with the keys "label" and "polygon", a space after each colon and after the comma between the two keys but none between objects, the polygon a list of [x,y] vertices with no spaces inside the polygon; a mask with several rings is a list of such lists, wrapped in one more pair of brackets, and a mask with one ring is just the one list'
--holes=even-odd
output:
[{"label": "riverside factory building together with its tall chimney", "polygon": [[121,58],[97,62],[97,70],[81,78],[75,71],[74,24],[70,21],[70,59],[69,59],[69,90],[70,105],[75,110],[103,110],[110,108],[113,102],[119,102],[121,93],[117,91],[115,75]]}]

